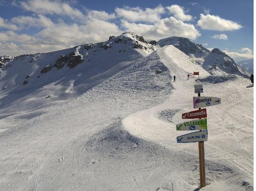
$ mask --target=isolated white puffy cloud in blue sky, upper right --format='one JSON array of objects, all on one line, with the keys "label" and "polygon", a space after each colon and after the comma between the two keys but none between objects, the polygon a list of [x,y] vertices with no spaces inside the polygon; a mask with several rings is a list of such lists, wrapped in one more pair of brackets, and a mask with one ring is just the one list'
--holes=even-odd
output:
[{"label": "isolated white puffy cloud in blue sky, upper right", "polygon": [[217,31],[238,30],[242,28],[238,23],[209,14],[200,14],[200,20],[197,22],[197,25],[202,29]]}]

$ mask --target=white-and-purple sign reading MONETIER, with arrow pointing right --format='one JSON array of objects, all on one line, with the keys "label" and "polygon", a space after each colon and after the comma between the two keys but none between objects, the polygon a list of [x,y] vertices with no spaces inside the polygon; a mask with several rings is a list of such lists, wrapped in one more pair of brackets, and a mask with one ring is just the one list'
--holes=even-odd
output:
[{"label": "white-and-purple sign reading MONETIER, with arrow pointing right", "polygon": [[221,104],[221,98],[215,97],[193,97],[194,108],[205,108]]}]

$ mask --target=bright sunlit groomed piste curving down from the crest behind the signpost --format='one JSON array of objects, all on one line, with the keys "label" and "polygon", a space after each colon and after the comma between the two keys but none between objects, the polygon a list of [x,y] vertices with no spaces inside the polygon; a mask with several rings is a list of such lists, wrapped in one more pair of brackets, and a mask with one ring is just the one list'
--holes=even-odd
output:
[{"label": "bright sunlit groomed piste curving down from the crest behind the signpost", "polygon": [[[170,97],[163,104],[129,115],[123,120],[123,124],[134,136],[197,157],[197,145],[192,146],[196,143],[176,143],[176,136],[188,133],[177,132],[176,124],[183,122],[183,112],[195,110],[192,108],[192,97],[197,96],[193,92],[193,85],[197,82],[194,78],[188,81],[181,80],[186,73],[192,71],[190,68],[186,69],[184,63],[177,63],[175,57],[166,56],[168,51],[168,48],[162,49],[158,54],[171,76],[177,77],[176,82],[172,82],[174,90]],[[253,90],[246,88],[246,82],[246,79],[219,84],[204,82],[204,93],[201,95],[222,99],[222,105],[207,108],[206,168],[211,174],[231,169],[231,176],[225,177],[223,173],[219,180],[224,178],[234,185],[242,184],[244,180],[249,180],[253,184]],[[218,95],[215,92],[222,94]],[[220,167],[216,172],[211,167],[215,164],[219,164]],[[213,180],[211,182],[214,183]]]}]

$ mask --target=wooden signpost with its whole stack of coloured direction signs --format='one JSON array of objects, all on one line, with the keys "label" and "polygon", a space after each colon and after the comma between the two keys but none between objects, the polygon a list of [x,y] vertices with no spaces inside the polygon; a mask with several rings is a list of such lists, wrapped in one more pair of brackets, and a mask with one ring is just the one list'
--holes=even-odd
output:
[{"label": "wooden signpost with its whole stack of coloured direction signs", "polygon": [[[198,74],[194,72],[194,75]],[[199,172],[200,172],[200,188],[206,186],[205,181],[205,160],[204,160],[204,141],[207,141],[208,131],[207,131],[207,113],[206,109],[201,109],[204,107],[214,106],[221,104],[221,98],[216,97],[201,97],[200,93],[203,93],[203,85],[194,85],[194,92],[198,93],[198,97],[193,97],[193,106],[198,108],[198,110],[183,113],[183,119],[195,119],[193,121],[184,122],[176,125],[176,131],[193,131],[190,134],[185,134],[182,136],[177,136],[177,143],[187,143],[187,142],[198,142],[199,150]],[[202,119],[203,118],[203,119]]]}]

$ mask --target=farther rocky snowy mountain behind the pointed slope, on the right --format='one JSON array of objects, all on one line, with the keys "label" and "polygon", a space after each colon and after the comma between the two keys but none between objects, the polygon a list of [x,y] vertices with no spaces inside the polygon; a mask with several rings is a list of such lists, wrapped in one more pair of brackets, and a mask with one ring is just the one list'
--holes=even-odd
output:
[{"label": "farther rocky snowy mountain behind the pointed slope, on the right", "polygon": [[173,45],[213,75],[217,74],[237,74],[248,78],[250,73],[237,65],[234,60],[220,51],[218,48],[209,51],[200,44],[191,42],[184,37],[169,37],[157,42],[160,47]]}]

